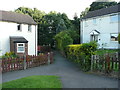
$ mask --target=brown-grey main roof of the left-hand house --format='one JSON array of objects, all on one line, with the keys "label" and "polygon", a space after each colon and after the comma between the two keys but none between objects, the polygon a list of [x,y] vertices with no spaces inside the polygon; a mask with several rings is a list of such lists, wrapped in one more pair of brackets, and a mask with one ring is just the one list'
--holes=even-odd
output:
[{"label": "brown-grey main roof of the left-hand house", "polygon": [[16,12],[10,11],[1,11],[0,14],[0,21],[7,21],[7,22],[15,22],[15,23],[23,23],[23,24],[32,24],[36,25],[37,23],[33,20],[32,17],[29,15],[24,15]]}]

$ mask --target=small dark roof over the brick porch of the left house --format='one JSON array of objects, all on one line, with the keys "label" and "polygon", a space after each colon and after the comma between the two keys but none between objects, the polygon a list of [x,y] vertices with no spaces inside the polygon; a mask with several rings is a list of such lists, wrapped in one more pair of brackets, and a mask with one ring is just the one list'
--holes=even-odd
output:
[{"label": "small dark roof over the brick porch of the left house", "polygon": [[10,40],[14,43],[28,43],[28,41],[22,36],[11,36]]}]

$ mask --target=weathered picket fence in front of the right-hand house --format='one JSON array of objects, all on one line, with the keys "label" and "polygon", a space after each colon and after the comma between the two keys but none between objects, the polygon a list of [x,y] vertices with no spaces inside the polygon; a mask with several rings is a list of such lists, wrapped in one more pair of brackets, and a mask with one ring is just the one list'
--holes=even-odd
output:
[{"label": "weathered picket fence in front of the right-hand house", "polygon": [[118,53],[93,55],[91,57],[91,70],[104,73],[118,72],[120,70]]}]

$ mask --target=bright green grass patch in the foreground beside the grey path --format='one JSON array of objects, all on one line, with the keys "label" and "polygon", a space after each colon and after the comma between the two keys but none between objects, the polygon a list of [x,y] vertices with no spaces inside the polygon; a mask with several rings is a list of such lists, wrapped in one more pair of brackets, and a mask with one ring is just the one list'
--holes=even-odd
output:
[{"label": "bright green grass patch in the foreground beside the grey path", "polygon": [[29,76],[5,82],[2,88],[62,88],[58,76]]}]

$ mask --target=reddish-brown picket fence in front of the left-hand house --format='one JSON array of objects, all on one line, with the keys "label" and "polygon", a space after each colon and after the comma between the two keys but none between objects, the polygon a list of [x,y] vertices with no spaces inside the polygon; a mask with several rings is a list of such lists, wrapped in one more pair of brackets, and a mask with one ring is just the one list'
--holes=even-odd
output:
[{"label": "reddish-brown picket fence in front of the left-hand house", "polygon": [[19,58],[4,58],[2,59],[2,72],[15,70],[24,70],[31,67],[37,67],[43,64],[53,63],[53,53],[43,54],[39,56],[26,55]]}]

